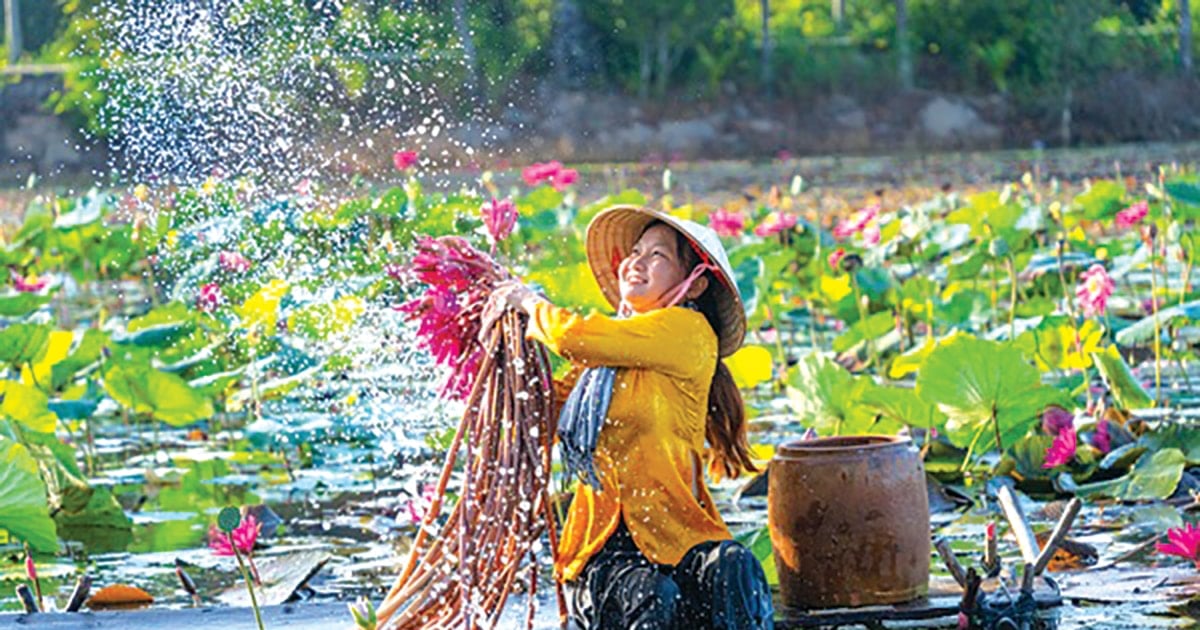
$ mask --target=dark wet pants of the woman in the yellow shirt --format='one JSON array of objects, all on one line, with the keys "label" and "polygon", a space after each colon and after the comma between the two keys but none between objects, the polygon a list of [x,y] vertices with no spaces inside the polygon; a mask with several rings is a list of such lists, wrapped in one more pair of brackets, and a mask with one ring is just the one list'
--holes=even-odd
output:
[{"label": "dark wet pants of the woman in the yellow shirt", "polygon": [[774,628],[762,566],[732,540],[696,545],[676,566],[654,564],[622,522],[565,590],[582,630]]}]

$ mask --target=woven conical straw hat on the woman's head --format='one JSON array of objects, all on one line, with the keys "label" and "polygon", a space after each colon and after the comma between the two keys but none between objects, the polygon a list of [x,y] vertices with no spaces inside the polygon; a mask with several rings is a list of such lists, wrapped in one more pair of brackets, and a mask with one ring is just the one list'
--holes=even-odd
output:
[{"label": "woven conical straw hat on the woman's head", "polygon": [[745,310],[721,239],[706,226],[636,205],[614,205],[604,209],[588,224],[587,235],[588,264],[600,284],[600,290],[613,307],[620,304],[617,269],[646,232],[646,227],[655,221],[679,230],[706,262],[715,263],[720,268],[719,272],[714,271],[720,281],[720,290],[716,292],[716,311],[720,318],[720,330],[716,331],[718,350],[721,356],[733,354],[745,338]]}]

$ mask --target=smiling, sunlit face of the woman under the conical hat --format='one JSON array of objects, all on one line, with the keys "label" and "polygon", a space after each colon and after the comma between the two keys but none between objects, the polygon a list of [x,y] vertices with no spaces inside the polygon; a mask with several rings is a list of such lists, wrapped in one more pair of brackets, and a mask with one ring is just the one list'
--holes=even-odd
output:
[{"label": "smiling, sunlit face of the woman under the conical hat", "polygon": [[[642,233],[629,256],[620,262],[620,299],[634,312],[644,313],[664,306],[661,302],[666,294],[688,277],[690,270],[684,269],[684,262],[679,259],[677,239],[671,227],[654,226]],[[689,296],[698,293],[697,288],[702,292],[704,284],[703,278],[697,280],[688,292]]]}]

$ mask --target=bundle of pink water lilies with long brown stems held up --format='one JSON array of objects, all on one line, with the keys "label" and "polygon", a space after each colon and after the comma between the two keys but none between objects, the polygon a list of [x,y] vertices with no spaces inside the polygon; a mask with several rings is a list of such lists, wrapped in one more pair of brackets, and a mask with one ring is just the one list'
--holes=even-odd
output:
[{"label": "bundle of pink water lilies with long brown stems held up", "polygon": [[[514,311],[480,335],[493,287],[512,276],[466,240],[421,239],[409,270],[427,289],[401,311],[420,320],[422,347],[451,367],[443,392],[467,407],[408,562],[379,606],[379,626],[494,628],[522,571],[532,626],[541,536],[551,553],[557,547],[550,358],[524,338],[523,316]],[[460,460],[458,500],[442,520]],[[565,619],[560,592],[558,606]]]}]

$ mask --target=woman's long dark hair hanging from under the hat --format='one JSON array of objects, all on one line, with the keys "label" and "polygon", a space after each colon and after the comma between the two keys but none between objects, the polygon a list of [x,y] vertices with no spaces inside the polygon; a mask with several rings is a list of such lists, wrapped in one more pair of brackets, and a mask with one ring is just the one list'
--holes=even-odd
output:
[{"label": "woman's long dark hair hanging from under the hat", "polygon": [[[646,229],[656,224],[666,223],[655,221]],[[695,269],[702,262],[700,252],[679,230],[672,228],[671,232],[676,235],[676,253],[684,271]],[[704,319],[708,320],[708,325],[713,328],[713,334],[718,334],[721,330],[721,318],[716,292],[726,289],[710,270],[706,271],[702,277],[708,280],[708,287],[695,299],[695,302]],[[733,383],[730,368],[719,358],[716,359],[716,370],[713,373],[713,383],[708,388],[708,419],[704,422],[704,439],[712,448],[712,458],[708,463],[710,474],[720,478],[737,478],[742,473],[758,472],[750,458],[745,404],[742,402],[742,392]]]}]

